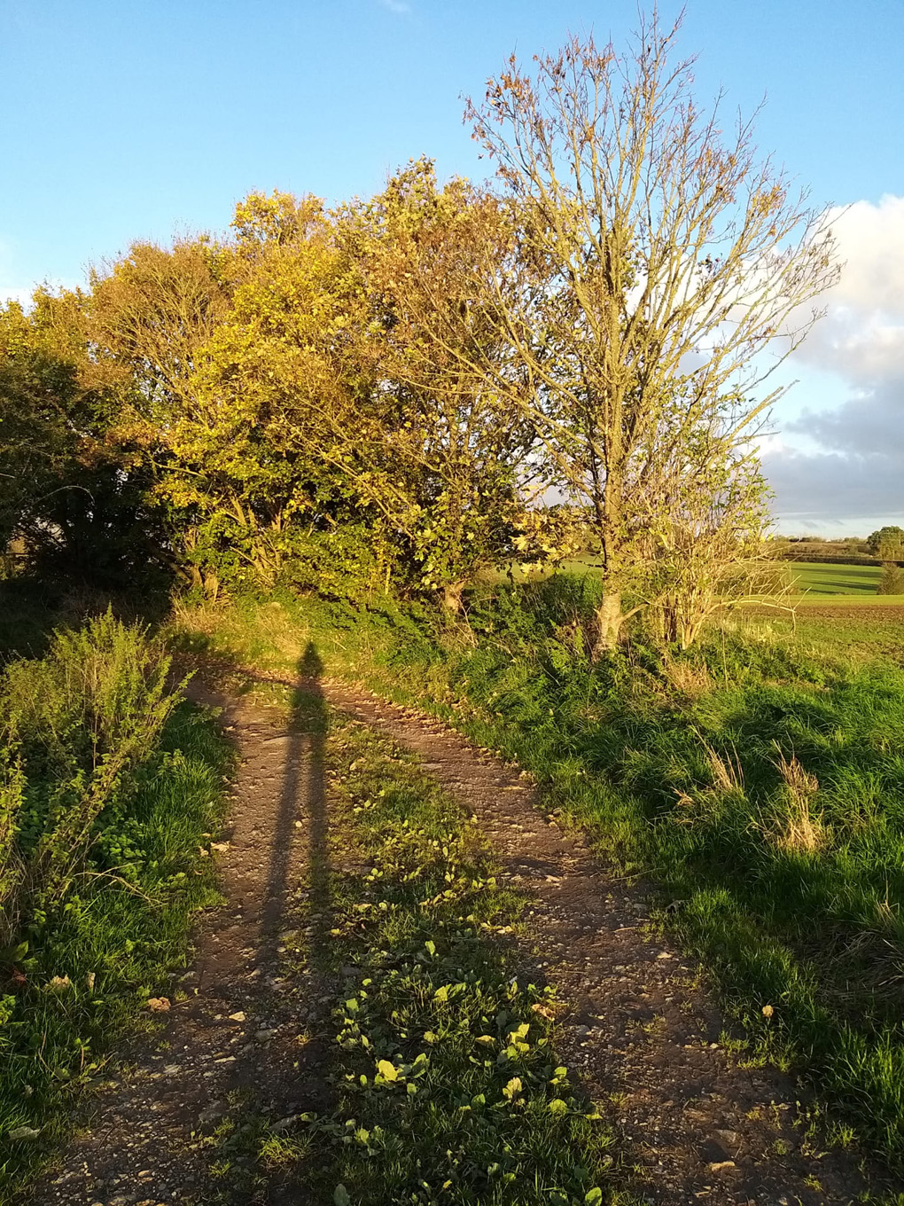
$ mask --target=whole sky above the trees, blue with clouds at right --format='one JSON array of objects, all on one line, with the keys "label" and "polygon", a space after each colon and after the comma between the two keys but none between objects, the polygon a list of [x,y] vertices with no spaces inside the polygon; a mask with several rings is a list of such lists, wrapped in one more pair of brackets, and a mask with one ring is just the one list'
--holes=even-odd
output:
[{"label": "whole sky above the trees, blue with clouds at right", "polygon": [[[337,200],[422,153],[480,176],[462,93],[512,51],[623,42],[635,22],[624,0],[0,0],[0,297],[221,228],[253,188]],[[783,526],[903,515],[904,4],[689,0],[681,43],[702,98],[767,98],[759,145],[816,204],[861,203],[839,222],[850,280],[767,451]]]}]

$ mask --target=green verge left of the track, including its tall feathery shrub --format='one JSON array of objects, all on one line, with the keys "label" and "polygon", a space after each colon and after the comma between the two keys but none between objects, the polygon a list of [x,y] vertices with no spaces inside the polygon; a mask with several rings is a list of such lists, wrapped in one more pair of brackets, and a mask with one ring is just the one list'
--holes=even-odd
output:
[{"label": "green verge left of the track, including its tall feathery shrub", "polygon": [[159,645],[107,616],[0,690],[0,1199],[65,1138],[111,1040],[152,1025],[190,914],[217,898],[199,847],[230,756],[165,674]]}]

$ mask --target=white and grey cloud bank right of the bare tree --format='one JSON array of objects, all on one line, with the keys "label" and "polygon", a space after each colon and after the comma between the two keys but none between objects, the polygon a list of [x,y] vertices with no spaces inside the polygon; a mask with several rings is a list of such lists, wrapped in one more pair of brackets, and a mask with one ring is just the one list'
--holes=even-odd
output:
[{"label": "white and grey cloud bank right of the bare tree", "polygon": [[857,201],[833,230],[846,263],[794,358],[835,374],[849,397],[805,410],[763,457],[792,531],[904,515],[904,197]]}]

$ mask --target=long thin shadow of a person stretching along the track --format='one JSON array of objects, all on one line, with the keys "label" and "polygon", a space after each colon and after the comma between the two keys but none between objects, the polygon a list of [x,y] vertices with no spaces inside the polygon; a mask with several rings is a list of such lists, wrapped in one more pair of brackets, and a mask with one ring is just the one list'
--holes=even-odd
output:
[{"label": "long thin shadow of a person stretching along the track", "polygon": [[[240,1149],[246,1142],[242,1135],[256,1132],[258,1142],[266,1136],[271,1143],[283,1137],[289,1142],[299,1114],[323,1113],[333,1103],[325,1076],[330,1054],[327,984],[317,967],[317,953],[329,941],[331,926],[325,784],[329,716],[322,673],[317,649],[309,643],[287,683],[292,686],[288,725],[271,728],[264,737],[274,743],[271,750],[278,743],[280,778],[266,862],[258,872],[260,907],[251,939],[257,970],[242,1005],[242,1013],[248,1006],[253,1009],[258,1029],[233,1069],[229,1088],[240,1096],[227,1119],[233,1129],[215,1148],[219,1160]],[[297,929],[304,932],[295,933]],[[272,1167],[246,1160],[230,1172],[229,1200],[290,1206],[299,1200],[300,1175],[301,1166],[294,1160]],[[252,1198],[256,1176],[257,1196]]]}]

